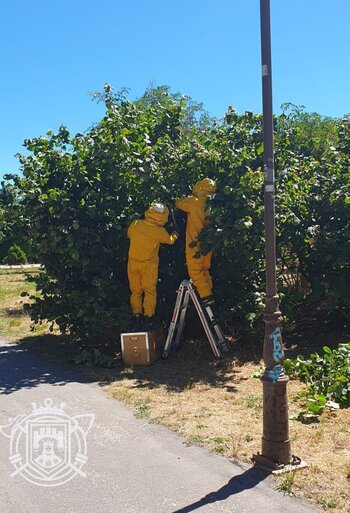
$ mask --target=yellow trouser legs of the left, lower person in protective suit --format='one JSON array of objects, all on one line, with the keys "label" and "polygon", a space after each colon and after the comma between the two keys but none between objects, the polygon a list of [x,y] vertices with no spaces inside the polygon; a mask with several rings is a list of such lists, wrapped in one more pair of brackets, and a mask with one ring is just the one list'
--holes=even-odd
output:
[{"label": "yellow trouser legs of the left, lower person in protective suit", "polygon": [[132,313],[152,317],[157,304],[158,264],[129,258],[128,279]]}]

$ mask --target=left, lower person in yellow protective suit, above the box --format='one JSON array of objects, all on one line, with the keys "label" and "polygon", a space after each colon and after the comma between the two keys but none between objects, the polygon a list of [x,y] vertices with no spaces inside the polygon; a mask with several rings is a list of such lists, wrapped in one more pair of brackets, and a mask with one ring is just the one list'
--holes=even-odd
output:
[{"label": "left, lower person in yellow protective suit, above the box", "polygon": [[162,203],[155,203],[145,212],[145,219],[136,219],[128,228],[128,279],[134,331],[150,331],[153,328],[157,303],[159,246],[174,244],[179,237],[176,231],[169,234],[164,228],[168,217],[168,208]]}]

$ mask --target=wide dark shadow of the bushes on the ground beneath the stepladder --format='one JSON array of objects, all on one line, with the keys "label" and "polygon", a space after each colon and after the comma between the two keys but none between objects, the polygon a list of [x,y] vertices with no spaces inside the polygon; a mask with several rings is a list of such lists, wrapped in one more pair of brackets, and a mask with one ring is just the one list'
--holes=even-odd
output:
[{"label": "wide dark shadow of the bushes on the ground beneath the stepladder", "polygon": [[[322,352],[323,345],[347,341],[346,335],[305,333],[286,336],[286,357],[297,354],[308,357],[312,352]],[[249,379],[242,372],[242,365],[250,362],[261,364],[263,334],[241,337],[231,343],[231,351],[223,359],[214,358],[209,343],[200,340],[186,340],[179,351],[172,352],[168,359],[157,360],[150,366],[125,367],[121,360],[119,336],[99,345],[72,341],[58,335],[36,335],[26,337],[17,345],[0,346],[0,390],[12,393],[23,387],[40,383],[62,385],[67,381],[98,382],[101,386],[115,381],[132,379],[133,388],[155,389],[165,387],[171,392],[181,392],[196,384],[224,388],[235,393],[239,384]],[[113,368],[83,367],[73,365],[73,358],[81,349],[97,347],[102,354],[114,356]],[[31,359],[26,353],[34,352],[38,359]],[[24,359],[29,358],[26,365]],[[40,359],[39,359],[40,358]],[[50,362],[50,363],[48,363]],[[60,364],[58,366],[57,364]]]}]

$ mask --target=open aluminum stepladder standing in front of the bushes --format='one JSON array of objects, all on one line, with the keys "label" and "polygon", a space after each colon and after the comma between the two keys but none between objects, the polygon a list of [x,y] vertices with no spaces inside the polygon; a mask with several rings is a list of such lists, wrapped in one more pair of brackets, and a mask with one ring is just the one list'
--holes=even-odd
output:
[{"label": "open aluminum stepladder standing in front of the bushes", "polygon": [[216,322],[210,306],[202,306],[191,280],[183,280],[180,284],[179,290],[177,291],[174,313],[169,326],[168,336],[164,345],[163,358],[167,358],[169,356],[176,328],[176,338],[173,346],[178,347],[181,342],[182,333],[185,326],[186,311],[190,298],[192,299],[192,302],[197,310],[199,319],[209,340],[209,344],[212,348],[214,356],[216,358],[222,358],[222,353],[229,350],[225,336],[221,331],[220,326]]}]

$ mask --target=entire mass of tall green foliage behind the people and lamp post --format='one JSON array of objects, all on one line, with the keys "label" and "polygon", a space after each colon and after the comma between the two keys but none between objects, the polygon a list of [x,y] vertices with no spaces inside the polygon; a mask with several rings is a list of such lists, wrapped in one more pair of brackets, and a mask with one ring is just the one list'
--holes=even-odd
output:
[{"label": "entire mass of tall green foliage behind the people and lamp post", "polygon": [[[200,238],[203,252],[214,250],[220,313],[227,328],[254,322],[265,279],[261,116],[229,108],[219,122],[166,87],[130,101],[106,85],[96,97],[106,105],[96,126],[74,137],[62,126],[26,140],[30,154],[19,155],[23,176],[14,186],[44,264],[34,320],[80,337],[125,329],[128,224],[150,202],[172,206],[209,176],[218,192],[210,202],[213,224]],[[349,149],[348,118],[286,106],[275,119],[280,287],[304,301],[331,299],[341,311],[350,303]],[[182,238],[160,251],[163,319],[184,277]]]}]

